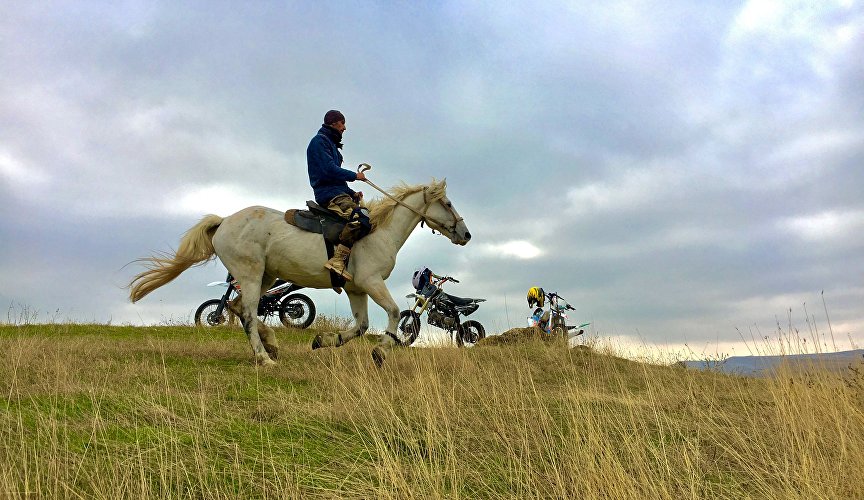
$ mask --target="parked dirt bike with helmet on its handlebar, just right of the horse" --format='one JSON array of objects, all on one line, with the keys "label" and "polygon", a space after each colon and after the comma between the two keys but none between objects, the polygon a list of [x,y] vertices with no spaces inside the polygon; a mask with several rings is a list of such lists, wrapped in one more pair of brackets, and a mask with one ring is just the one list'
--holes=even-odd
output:
[{"label": "parked dirt bike with helmet on its handlebar, just right of the horse", "polygon": [[414,306],[399,313],[396,336],[402,345],[409,346],[417,340],[420,334],[420,316],[424,312],[427,313],[426,322],[447,330],[451,339],[455,336],[456,345],[459,347],[473,346],[486,336],[486,329],[479,322],[462,322],[459,319],[460,316],[468,316],[476,311],[480,302],[485,302],[486,299],[463,299],[445,293],[442,286],[448,281],[459,283],[459,280],[445,276],[437,282],[428,283],[423,290],[405,296],[414,299]]}]

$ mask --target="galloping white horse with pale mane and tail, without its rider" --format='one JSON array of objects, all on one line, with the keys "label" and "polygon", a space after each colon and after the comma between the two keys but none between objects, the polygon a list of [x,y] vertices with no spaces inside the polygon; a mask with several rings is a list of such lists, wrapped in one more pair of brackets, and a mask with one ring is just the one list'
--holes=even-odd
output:
[{"label": "galloping white horse with pale mane and tail, without its rider", "polygon": [[[393,190],[393,199],[370,202],[373,230],[354,244],[347,267],[354,280],[344,286],[354,324],[342,332],[318,335],[312,349],[340,346],[365,333],[369,328],[367,297],[372,297],[388,317],[385,335],[372,351],[375,363],[381,365],[385,350],[398,344],[394,334],[399,321],[399,306],[384,280],[393,271],[396,253],[408,236],[424,221],[457,245],[471,239],[462,217],[447,199],[446,189],[446,181],[434,179],[428,185],[402,184]],[[287,224],[281,211],[255,206],[224,219],[206,215],[183,235],[175,255],[139,259],[147,270],[129,283],[129,298],[137,302],[189,267],[215,257],[222,260],[243,290],[240,319],[260,364],[274,363],[279,350],[273,330],[258,321],[261,292],[277,277],[309,288],[333,287],[330,272],[324,268],[327,251],[322,236]]]}]

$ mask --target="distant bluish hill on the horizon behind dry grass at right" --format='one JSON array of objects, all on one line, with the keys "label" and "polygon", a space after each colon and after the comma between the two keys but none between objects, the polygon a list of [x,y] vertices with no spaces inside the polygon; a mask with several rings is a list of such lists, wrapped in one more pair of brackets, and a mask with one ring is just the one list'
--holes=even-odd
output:
[{"label": "distant bluish hill on the horizon behind dry grass at right", "polygon": [[723,361],[681,361],[679,365],[698,370],[715,370],[738,375],[767,376],[786,364],[796,370],[822,368],[843,370],[850,364],[864,362],[864,349],[818,354],[790,354],[784,356],[732,356]]}]

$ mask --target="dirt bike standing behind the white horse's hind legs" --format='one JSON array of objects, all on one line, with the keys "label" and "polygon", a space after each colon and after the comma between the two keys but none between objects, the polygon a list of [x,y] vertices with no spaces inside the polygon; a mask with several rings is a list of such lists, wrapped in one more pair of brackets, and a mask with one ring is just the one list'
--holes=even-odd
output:
[{"label": "dirt bike standing behind the white horse's hind legs", "polygon": [[[221,298],[210,299],[195,311],[198,326],[220,326],[232,323],[234,314],[228,304],[240,296],[240,286],[229,274],[225,281],[214,281],[207,286],[227,287]],[[315,320],[315,303],[302,293],[291,293],[303,288],[293,283],[276,280],[272,288],[258,301],[258,316],[268,326],[278,326],[276,318],[289,328],[308,328]],[[290,294],[290,295],[289,295]]]}]

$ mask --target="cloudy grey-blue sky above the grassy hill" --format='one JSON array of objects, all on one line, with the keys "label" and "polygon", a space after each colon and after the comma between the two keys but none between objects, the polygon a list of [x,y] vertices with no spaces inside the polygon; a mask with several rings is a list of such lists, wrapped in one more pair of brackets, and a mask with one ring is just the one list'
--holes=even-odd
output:
[{"label": "cloudy grey-blue sky above the grassy hill", "polygon": [[135,305],[125,265],[204,214],[302,206],[336,108],[347,166],[446,178],[474,235],[418,228],[395,297],[426,264],[490,332],[539,285],[636,344],[746,354],[790,317],[828,338],[827,309],[861,346],[862,54],[858,0],[7,0],[0,320],[189,321],[220,264]]}]

